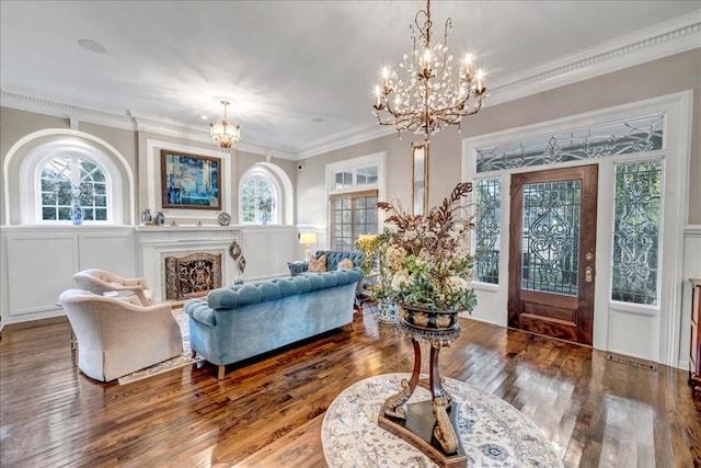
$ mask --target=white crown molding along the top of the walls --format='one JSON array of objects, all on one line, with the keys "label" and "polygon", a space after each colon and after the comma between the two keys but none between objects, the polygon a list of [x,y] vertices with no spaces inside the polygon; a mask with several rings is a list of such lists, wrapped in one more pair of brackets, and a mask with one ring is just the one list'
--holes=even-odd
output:
[{"label": "white crown molding along the top of the walls", "polygon": [[[495,105],[565,84],[590,79],[611,71],[644,64],[662,57],[698,48],[701,44],[701,20],[697,12],[659,23],[581,50],[551,62],[496,78],[490,88],[486,105]],[[134,115],[129,111],[110,112],[67,104],[0,90],[2,106],[46,115],[79,119],[130,130],[148,130],[159,135],[187,137],[211,142],[206,128],[166,122],[160,117]],[[368,103],[368,109],[370,104]],[[369,113],[368,113],[369,114]],[[275,148],[258,141],[242,141],[238,149],[256,155],[269,153],[288,160],[300,160],[363,141],[391,135],[390,127],[368,124],[312,141],[302,148]]]}]

